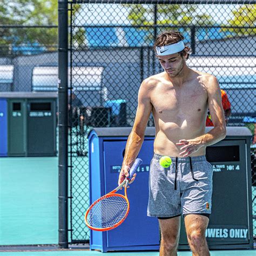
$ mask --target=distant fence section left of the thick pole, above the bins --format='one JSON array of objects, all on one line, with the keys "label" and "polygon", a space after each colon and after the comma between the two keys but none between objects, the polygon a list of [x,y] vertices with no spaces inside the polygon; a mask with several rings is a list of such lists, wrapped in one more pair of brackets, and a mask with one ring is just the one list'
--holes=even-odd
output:
[{"label": "distant fence section left of the thick pole, above the bins", "polygon": [[[57,91],[57,26],[0,25],[0,92]],[[49,87],[50,85],[50,87]]]}]

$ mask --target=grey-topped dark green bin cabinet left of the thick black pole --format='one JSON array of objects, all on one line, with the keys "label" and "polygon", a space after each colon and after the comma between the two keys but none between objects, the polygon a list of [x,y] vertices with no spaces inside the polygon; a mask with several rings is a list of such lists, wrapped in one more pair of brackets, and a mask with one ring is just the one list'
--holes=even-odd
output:
[{"label": "grey-topped dark green bin cabinet left of the thick black pole", "polygon": [[1,92],[0,99],[7,145],[0,155],[56,156],[57,93]]}]

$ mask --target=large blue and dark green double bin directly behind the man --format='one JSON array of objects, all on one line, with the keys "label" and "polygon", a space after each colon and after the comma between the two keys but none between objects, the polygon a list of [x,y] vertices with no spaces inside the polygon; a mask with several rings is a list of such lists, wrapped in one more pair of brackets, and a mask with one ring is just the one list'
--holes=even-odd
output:
[{"label": "large blue and dark green double bin directly behind the man", "polygon": [[[206,132],[211,129],[206,127]],[[108,127],[95,128],[89,133],[90,203],[117,185],[130,132],[131,127]],[[154,136],[154,127],[147,127],[139,153],[143,166],[128,193],[131,214],[129,213],[124,224],[113,231],[91,231],[91,249],[130,251],[140,250],[139,246],[141,250],[159,248],[158,221],[146,215]],[[246,127],[227,127],[226,138],[206,149],[207,160],[213,165],[212,214],[206,232],[210,249],[253,249],[251,136]],[[144,223],[150,225],[141,225]],[[124,237],[127,230],[136,234],[134,241],[129,232]],[[188,248],[182,218],[179,250]]]}]

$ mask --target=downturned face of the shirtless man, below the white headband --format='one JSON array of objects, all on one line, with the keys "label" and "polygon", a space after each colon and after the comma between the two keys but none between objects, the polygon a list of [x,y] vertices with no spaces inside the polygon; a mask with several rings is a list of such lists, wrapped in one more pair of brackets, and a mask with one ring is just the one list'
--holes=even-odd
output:
[{"label": "downturned face of the shirtless man, below the white headband", "polygon": [[185,64],[184,58],[181,57],[179,53],[158,56],[158,59],[161,66],[170,77],[177,76]]}]

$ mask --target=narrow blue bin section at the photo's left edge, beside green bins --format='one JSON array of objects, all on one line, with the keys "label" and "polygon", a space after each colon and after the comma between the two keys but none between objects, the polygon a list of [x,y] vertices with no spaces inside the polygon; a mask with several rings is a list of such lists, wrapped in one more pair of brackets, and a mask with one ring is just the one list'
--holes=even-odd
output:
[{"label": "narrow blue bin section at the photo's left edge, beside green bins", "polygon": [[0,156],[8,155],[8,118],[7,118],[7,100],[0,99]]}]

